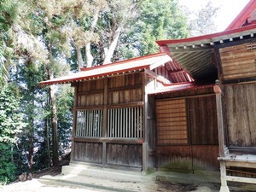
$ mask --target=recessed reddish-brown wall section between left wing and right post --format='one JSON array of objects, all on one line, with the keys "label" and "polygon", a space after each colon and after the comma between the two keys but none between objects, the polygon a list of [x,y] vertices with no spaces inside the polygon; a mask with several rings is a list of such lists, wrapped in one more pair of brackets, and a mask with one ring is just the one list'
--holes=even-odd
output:
[{"label": "recessed reddish-brown wall section between left wing and right post", "polygon": [[[184,93],[175,93],[177,94],[183,96]],[[156,117],[158,133],[156,157],[157,167],[160,170],[218,171],[218,122],[215,96],[209,92],[208,96],[157,100]],[[178,135],[176,131],[179,131]],[[161,143],[162,133],[169,139],[169,143]],[[181,135],[186,142],[180,143]]]}]

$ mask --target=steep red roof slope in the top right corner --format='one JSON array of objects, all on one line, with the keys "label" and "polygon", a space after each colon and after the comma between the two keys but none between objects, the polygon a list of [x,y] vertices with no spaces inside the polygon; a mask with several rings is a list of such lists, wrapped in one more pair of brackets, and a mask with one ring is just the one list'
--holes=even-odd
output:
[{"label": "steep red roof slope in the top right corner", "polygon": [[254,9],[256,9],[256,1],[251,0],[247,3],[244,9],[241,10],[240,14],[236,16],[235,20],[230,23],[230,26],[228,26],[225,31],[241,27],[247,19],[250,18]]}]

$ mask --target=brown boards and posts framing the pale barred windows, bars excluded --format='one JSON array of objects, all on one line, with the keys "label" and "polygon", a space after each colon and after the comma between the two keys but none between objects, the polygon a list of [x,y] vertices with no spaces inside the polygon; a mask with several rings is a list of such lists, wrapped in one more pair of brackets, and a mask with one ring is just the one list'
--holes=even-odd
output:
[{"label": "brown boards and posts framing the pale barred windows, bars excluded", "polygon": [[[97,134],[96,137],[81,137],[86,134],[77,136],[79,131],[76,131],[76,125],[78,123],[74,122],[72,160],[97,163],[103,166],[142,167],[143,153],[140,139],[112,139],[107,137],[106,131],[109,120],[107,113],[110,111],[108,109],[143,106],[143,73],[88,80],[76,83],[75,86],[77,98],[74,105],[74,119],[77,119],[78,111],[84,114],[84,110],[97,109],[102,110],[103,114],[99,115],[96,112],[97,117],[101,117],[99,120],[102,120],[102,125],[98,126],[102,128],[102,134]],[[84,127],[84,123],[79,123],[79,126]],[[81,130],[84,131],[84,128]],[[102,136],[104,139],[98,136]]]}]

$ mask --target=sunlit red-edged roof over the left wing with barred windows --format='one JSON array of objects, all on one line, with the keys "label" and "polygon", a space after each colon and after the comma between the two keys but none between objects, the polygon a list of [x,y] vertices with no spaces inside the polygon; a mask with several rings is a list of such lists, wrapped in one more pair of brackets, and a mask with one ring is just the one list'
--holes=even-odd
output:
[{"label": "sunlit red-edged roof over the left wing with barred windows", "polygon": [[82,68],[82,71],[79,73],[73,73],[69,76],[50,79],[40,82],[39,84],[40,86],[47,84],[68,84],[84,79],[102,78],[113,74],[136,72],[143,69],[153,70],[156,67],[164,65],[168,61],[172,61],[170,55],[166,53],[157,53],[153,55],[137,57],[130,60],[118,61],[102,66]]}]

